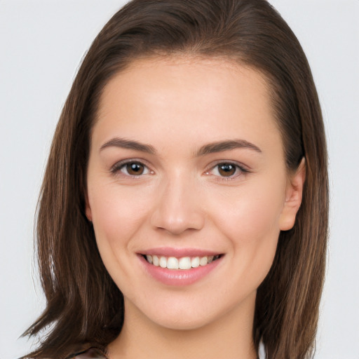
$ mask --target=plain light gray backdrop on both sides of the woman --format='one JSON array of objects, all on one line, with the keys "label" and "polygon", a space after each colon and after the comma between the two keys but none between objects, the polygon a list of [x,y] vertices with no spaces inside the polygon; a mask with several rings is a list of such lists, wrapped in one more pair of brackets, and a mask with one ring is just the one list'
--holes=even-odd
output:
[{"label": "plain light gray backdrop on both sides of the woman", "polygon": [[[83,54],[122,0],[0,0],[0,359],[43,309],[33,218],[57,118]],[[359,358],[359,1],[272,0],[318,86],[331,175],[328,269],[316,359]]]}]

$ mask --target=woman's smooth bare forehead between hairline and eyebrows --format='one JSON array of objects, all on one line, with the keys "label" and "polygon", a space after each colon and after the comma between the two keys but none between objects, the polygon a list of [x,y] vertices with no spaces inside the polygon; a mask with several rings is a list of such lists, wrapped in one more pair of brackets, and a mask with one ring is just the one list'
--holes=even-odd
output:
[{"label": "woman's smooth bare forehead between hairline and eyebrows", "polygon": [[172,144],[279,138],[264,76],[223,59],[136,60],[107,83],[97,114],[93,137],[103,139],[116,132],[145,142],[171,136]]}]

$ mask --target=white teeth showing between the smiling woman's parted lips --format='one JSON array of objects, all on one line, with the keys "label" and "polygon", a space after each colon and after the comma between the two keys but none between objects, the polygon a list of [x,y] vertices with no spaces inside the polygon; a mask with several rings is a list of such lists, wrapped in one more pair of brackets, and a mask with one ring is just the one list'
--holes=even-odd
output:
[{"label": "white teeth showing between the smiling woman's parted lips", "polygon": [[206,266],[222,255],[208,255],[203,257],[165,257],[160,255],[142,255],[149,264],[154,266],[160,266],[167,269],[182,269],[188,270],[191,268],[198,268],[199,266]]}]

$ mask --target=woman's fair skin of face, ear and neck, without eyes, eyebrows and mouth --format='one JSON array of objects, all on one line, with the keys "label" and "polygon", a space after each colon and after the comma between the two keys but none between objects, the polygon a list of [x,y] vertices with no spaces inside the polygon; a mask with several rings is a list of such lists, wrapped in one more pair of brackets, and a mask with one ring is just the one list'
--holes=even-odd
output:
[{"label": "woman's fair skin of face, ear and neck, without eyes, eyebrows and mouth", "polygon": [[[114,138],[155,152],[103,147]],[[228,140],[257,149],[198,155]],[[124,160],[143,163],[142,175],[115,166]],[[228,176],[219,163],[234,171]],[[285,167],[266,81],[253,69],[151,58],[111,79],[92,133],[86,205],[104,265],[125,299],[123,330],[109,357],[257,358],[257,287],[280,231],[294,224],[304,178],[304,162],[294,173]],[[201,280],[173,287],[139,264],[138,253],[163,246],[223,257]]]}]

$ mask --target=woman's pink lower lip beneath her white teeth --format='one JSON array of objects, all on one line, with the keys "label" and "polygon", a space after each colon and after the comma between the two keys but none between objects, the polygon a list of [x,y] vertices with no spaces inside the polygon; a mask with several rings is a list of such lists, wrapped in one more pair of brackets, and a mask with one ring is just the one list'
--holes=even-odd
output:
[{"label": "woman's pink lower lip beneath her white teeth", "polygon": [[190,285],[198,280],[201,280],[213,271],[222,259],[222,257],[219,257],[205,266],[198,266],[197,268],[192,269],[168,269],[149,264],[149,262],[147,262],[142,255],[139,255],[138,257],[140,258],[142,264],[144,264],[145,271],[147,271],[150,276],[165,285],[175,286]]}]

